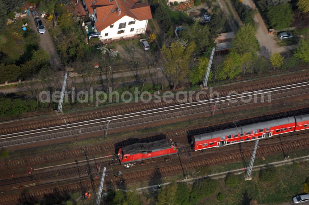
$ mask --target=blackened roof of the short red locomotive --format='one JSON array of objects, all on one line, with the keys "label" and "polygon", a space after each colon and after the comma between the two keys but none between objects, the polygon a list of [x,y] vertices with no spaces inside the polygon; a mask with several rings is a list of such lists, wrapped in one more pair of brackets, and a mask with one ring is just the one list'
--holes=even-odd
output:
[{"label": "blackened roof of the short red locomotive", "polygon": [[137,154],[144,152],[156,152],[163,149],[171,148],[172,143],[170,139],[158,140],[148,143],[136,143],[121,148],[123,154]]}]

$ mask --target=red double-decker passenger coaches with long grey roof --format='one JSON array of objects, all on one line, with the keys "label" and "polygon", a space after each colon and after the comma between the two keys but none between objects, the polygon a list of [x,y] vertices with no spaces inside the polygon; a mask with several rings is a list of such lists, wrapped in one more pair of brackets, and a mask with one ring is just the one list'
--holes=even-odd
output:
[{"label": "red double-decker passenger coaches with long grey roof", "polygon": [[197,151],[305,129],[309,129],[309,114],[194,135],[191,144],[194,150]]}]

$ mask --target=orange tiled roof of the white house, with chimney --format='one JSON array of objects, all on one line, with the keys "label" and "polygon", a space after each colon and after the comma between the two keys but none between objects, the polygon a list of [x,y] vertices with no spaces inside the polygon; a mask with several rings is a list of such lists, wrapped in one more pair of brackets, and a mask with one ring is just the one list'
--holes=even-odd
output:
[{"label": "orange tiled roof of the white house, with chimney", "polygon": [[[115,1],[121,10],[120,15],[118,15],[118,6]],[[99,32],[124,16],[139,21],[152,19],[150,6],[138,0],[112,0],[111,2],[109,0],[84,0],[84,2],[90,14],[93,14],[96,9],[97,22],[95,22],[95,26]]]}]

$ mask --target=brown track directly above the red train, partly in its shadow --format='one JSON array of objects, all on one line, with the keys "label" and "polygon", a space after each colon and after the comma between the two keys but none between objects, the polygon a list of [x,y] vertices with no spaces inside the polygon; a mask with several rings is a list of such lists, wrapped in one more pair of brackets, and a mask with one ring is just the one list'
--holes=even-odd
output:
[{"label": "brown track directly above the red train, partly in its shadow", "polygon": [[[283,117],[293,116],[293,115],[301,115],[304,113],[309,113],[309,107],[303,107],[298,110],[287,110],[287,111],[282,111],[279,113],[272,113],[269,115],[260,115],[260,116],[256,116],[254,118],[249,118],[249,119],[248,118],[238,119],[237,125],[241,126],[241,125],[245,125],[249,123],[257,123],[257,122],[261,122],[265,120],[272,120],[276,118],[283,118]],[[91,155],[94,155],[94,154],[102,155],[104,152],[113,154],[115,149],[127,146],[129,144],[134,144],[138,142],[146,143],[150,141],[160,140],[163,138],[170,138],[170,139],[174,139],[175,141],[176,138],[187,137],[187,136],[192,136],[192,135],[196,135],[200,133],[205,133],[205,132],[224,129],[224,128],[231,128],[231,127],[235,127],[235,124],[233,121],[161,133],[159,136],[146,136],[140,139],[125,140],[125,141],[115,142],[115,143],[106,143],[106,144],[100,144],[96,146],[74,149],[74,150],[69,150],[69,151],[64,151],[64,152],[59,152],[59,153],[44,154],[44,155],[39,155],[39,156],[22,158],[18,160],[10,160],[10,161],[5,161],[5,162],[0,162],[0,170],[1,169],[2,170],[14,169],[16,167],[33,166],[37,164],[50,163],[53,161],[61,161],[65,159],[76,158],[78,156],[83,157],[85,155],[85,149],[87,153]]]}]

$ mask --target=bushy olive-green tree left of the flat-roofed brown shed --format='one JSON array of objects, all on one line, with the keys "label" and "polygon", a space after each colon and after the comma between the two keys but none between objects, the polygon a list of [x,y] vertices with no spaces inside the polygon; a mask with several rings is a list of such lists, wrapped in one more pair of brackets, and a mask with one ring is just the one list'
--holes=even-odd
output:
[{"label": "bushy olive-green tree left of the flat-roofed brown shed", "polygon": [[179,35],[184,40],[194,41],[198,52],[203,51],[206,46],[213,43],[213,40],[209,38],[209,27],[198,22],[185,26],[185,29],[180,30]]}]

